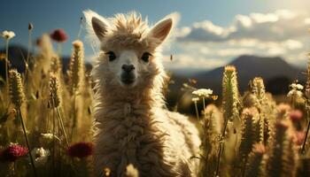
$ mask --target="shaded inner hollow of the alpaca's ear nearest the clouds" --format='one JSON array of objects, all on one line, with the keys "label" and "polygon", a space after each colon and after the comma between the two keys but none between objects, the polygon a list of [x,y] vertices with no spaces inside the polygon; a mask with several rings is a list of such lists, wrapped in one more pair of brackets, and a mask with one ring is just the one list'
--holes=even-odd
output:
[{"label": "shaded inner hollow of the alpaca's ear nearest the clouds", "polygon": [[164,42],[167,36],[169,35],[173,27],[173,19],[163,19],[159,21],[154,27],[151,28],[148,36],[155,37],[159,39],[160,42]]}]

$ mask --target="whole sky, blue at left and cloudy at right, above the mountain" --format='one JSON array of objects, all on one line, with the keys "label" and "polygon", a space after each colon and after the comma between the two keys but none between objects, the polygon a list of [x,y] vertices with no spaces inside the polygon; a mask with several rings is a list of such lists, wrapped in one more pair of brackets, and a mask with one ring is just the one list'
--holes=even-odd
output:
[{"label": "whole sky, blue at left and cloudy at right, above the mountain", "polygon": [[[35,26],[35,37],[64,28],[69,35],[64,44],[66,55],[71,52],[81,12],[86,9],[105,17],[137,11],[152,23],[178,12],[181,20],[175,40],[164,50],[167,56],[175,56],[174,63],[167,62],[173,69],[184,68],[191,61],[197,63],[193,69],[211,69],[242,54],[282,56],[294,65],[305,65],[306,50],[310,50],[310,42],[306,43],[310,41],[306,34],[310,27],[309,0],[2,0],[2,4],[0,31],[14,31],[12,43],[27,45],[28,22]],[[89,47],[86,54],[92,55]]]}]

